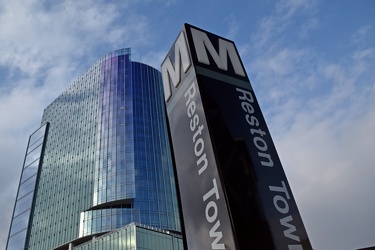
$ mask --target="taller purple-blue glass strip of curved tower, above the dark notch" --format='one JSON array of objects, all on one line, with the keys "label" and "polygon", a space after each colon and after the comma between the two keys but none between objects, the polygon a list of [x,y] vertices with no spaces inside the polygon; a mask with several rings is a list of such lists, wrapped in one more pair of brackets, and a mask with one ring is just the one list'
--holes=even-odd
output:
[{"label": "taller purple-blue glass strip of curved tower, above the dark notch", "polygon": [[[131,71],[130,51],[108,54],[101,68],[94,206],[135,196],[133,161],[126,161],[132,158],[134,142],[133,137],[126,141],[124,136],[125,126],[133,124],[132,102],[125,107],[125,88],[131,85],[130,75],[125,74]],[[131,89],[128,91],[132,98]]]}]

